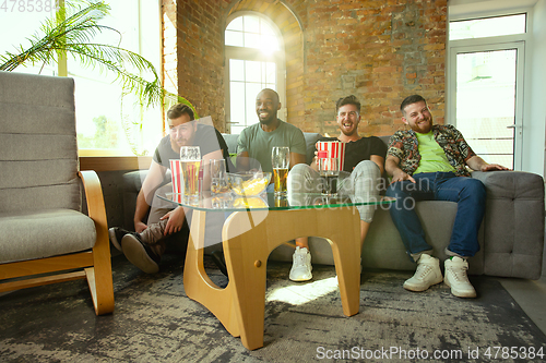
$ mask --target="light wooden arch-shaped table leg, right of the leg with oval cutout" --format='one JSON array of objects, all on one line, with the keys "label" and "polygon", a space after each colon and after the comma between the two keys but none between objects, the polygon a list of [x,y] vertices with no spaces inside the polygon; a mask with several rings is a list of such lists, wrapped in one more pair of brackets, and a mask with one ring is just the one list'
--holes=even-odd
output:
[{"label": "light wooden arch-shaped table leg, right of the leg with oval cutout", "polygon": [[317,235],[330,242],[343,313],[347,316],[358,313],[359,226],[355,208],[239,211],[226,220],[224,254],[234,288],[232,297],[239,318],[239,332],[246,348],[253,350],[263,346],[269,254],[297,237]]}]

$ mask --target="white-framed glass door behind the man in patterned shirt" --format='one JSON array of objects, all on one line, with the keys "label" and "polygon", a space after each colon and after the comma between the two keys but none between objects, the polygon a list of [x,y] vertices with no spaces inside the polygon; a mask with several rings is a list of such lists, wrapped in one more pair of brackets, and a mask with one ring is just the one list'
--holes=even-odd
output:
[{"label": "white-framed glass door behind the man in patterned shirt", "polygon": [[521,170],[524,43],[455,47],[450,62],[450,123],[487,162]]}]

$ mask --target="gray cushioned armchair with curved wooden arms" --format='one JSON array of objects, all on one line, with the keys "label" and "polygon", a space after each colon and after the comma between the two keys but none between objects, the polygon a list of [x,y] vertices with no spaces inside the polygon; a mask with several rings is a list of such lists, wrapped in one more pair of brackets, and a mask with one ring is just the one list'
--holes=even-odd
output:
[{"label": "gray cushioned armchair with curved wooden arms", "polygon": [[103,191],[79,172],[74,81],[0,72],[0,292],[82,278],[96,314],[111,313]]}]

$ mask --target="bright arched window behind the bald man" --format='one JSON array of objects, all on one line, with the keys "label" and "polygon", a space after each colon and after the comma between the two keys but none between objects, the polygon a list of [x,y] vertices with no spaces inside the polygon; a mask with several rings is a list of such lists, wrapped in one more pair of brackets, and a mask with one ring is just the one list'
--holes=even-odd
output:
[{"label": "bright arched window behind the bald man", "polygon": [[226,47],[226,116],[228,131],[238,134],[258,122],[256,96],[263,88],[278,93],[285,119],[285,60],[281,32],[258,13],[228,19]]}]

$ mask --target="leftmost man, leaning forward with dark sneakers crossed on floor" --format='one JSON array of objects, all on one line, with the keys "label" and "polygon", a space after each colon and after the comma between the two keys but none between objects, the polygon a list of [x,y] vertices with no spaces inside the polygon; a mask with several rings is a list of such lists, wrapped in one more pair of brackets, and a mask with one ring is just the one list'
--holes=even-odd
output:
[{"label": "leftmost man, leaning forward with dark sneakers crossed on floor", "polygon": [[[163,137],[155,149],[150,170],[136,197],[134,210],[134,230],[129,232],[121,228],[110,228],[110,241],[127,259],[144,273],[154,274],[159,269],[158,263],[165,252],[166,238],[179,232],[186,222],[182,207],[166,204],[157,198],[159,187],[170,181],[167,174],[170,159],[180,158],[181,146],[199,146],[202,165],[212,159],[225,159],[229,168],[229,154],[222,134],[213,126],[194,121],[193,111],[186,105],[175,105],[167,112],[169,134]],[[206,171],[206,167],[203,168]],[[204,176],[206,179],[206,176]],[[210,183],[204,183],[209,185]],[[162,190],[171,191],[171,184]],[[144,222],[144,218],[147,221]]]}]

